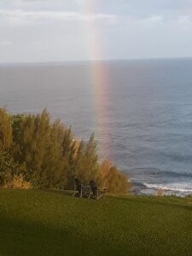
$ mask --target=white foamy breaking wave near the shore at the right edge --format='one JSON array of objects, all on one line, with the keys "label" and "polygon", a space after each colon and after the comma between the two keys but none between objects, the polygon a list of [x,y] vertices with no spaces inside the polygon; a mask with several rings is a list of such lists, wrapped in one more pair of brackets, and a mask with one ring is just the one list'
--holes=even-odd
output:
[{"label": "white foamy breaking wave near the shore at the right edge", "polygon": [[144,183],[148,189],[163,189],[185,193],[192,193],[192,183],[170,183],[170,184],[148,184]]}]

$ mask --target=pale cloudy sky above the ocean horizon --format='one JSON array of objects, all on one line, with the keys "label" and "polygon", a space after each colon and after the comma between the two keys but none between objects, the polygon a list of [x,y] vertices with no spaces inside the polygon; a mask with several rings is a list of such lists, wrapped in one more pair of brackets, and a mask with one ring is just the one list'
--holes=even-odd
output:
[{"label": "pale cloudy sky above the ocean horizon", "polygon": [[192,57],[192,0],[1,0],[0,62]]}]

